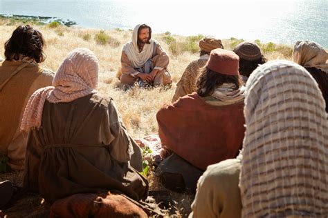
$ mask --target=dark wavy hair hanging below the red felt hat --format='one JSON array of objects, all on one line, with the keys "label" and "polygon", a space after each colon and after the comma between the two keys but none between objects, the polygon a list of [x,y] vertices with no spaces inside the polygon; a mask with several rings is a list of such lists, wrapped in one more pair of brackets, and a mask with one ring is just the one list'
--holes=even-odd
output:
[{"label": "dark wavy hair hanging below the red felt hat", "polygon": [[219,72],[210,70],[207,66],[199,69],[199,77],[197,79],[197,94],[201,97],[207,97],[213,94],[215,88],[223,83],[233,83],[237,90],[243,85],[242,78],[239,75],[223,75]]}]

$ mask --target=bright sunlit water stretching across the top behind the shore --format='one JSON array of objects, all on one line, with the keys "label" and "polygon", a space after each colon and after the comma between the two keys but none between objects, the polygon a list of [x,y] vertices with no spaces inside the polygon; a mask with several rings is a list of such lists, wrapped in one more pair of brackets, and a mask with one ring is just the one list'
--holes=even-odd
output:
[{"label": "bright sunlit water stretching across the top behind the shore", "polygon": [[311,40],[328,48],[328,1],[3,1],[0,14],[37,15],[76,21],[78,26],[214,35],[222,39],[293,44]]}]

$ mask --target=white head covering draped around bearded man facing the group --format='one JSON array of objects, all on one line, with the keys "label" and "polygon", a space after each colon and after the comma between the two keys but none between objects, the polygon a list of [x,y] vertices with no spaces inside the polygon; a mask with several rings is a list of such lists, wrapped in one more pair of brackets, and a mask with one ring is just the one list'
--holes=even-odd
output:
[{"label": "white head covering draped around bearded man facing the group", "polygon": [[131,65],[133,68],[142,68],[146,61],[152,58],[152,54],[154,52],[154,39],[150,39],[150,44],[145,43],[143,46],[143,50],[139,53],[138,48],[138,30],[142,24],[138,24],[134,28],[134,32],[132,34],[132,41],[125,43],[122,50],[127,54],[127,58],[131,61]]}]

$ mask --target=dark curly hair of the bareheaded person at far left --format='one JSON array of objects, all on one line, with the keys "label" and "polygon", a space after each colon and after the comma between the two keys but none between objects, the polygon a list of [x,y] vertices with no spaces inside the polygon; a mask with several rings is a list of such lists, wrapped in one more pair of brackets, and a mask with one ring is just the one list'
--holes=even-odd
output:
[{"label": "dark curly hair of the bareheaded person at far left", "polygon": [[19,26],[5,43],[6,60],[18,61],[19,55],[23,54],[37,63],[41,63],[46,59],[43,48],[44,37],[39,30],[35,30],[29,25]]}]

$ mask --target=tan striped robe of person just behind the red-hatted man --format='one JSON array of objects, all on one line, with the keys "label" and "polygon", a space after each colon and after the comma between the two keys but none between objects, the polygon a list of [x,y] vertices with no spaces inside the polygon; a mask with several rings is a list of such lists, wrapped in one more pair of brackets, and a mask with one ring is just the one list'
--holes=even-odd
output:
[{"label": "tan striped robe of person just behind the red-hatted man", "polygon": [[187,68],[185,68],[185,72],[183,72],[180,81],[176,84],[176,90],[172,98],[172,102],[178,100],[179,97],[183,97],[196,91],[198,70],[199,68],[202,68],[206,65],[209,57],[210,56],[208,54],[204,54],[203,56],[199,57],[199,59],[189,63]]}]

